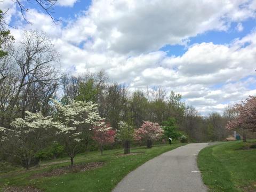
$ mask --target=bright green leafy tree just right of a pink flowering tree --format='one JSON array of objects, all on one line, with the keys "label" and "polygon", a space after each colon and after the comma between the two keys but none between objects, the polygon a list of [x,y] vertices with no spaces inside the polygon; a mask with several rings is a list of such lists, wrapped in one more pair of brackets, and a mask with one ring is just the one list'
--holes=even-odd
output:
[{"label": "bright green leafy tree just right of a pink flowering tree", "polygon": [[171,140],[169,138],[171,138],[172,140],[178,140],[182,133],[180,131],[178,131],[178,125],[176,122],[176,119],[173,117],[168,118],[167,121],[163,121],[162,122],[163,125],[163,130],[164,130],[164,135],[168,138],[170,145],[172,144]]}]

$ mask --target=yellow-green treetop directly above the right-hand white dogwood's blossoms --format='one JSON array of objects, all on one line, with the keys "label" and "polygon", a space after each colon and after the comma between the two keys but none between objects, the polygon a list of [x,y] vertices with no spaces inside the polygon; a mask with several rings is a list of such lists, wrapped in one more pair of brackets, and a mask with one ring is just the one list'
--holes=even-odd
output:
[{"label": "yellow-green treetop directly above the right-hand white dogwood's blossoms", "polygon": [[79,84],[79,94],[76,97],[77,101],[92,101],[95,102],[97,95],[99,94],[99,89],[94,85],[94,79],[90,78],[85,83]]}]

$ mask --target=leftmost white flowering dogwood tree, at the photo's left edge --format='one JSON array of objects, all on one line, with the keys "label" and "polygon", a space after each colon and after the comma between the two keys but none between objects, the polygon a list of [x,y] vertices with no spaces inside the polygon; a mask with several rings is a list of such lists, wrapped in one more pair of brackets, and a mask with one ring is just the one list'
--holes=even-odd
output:
[{"label": "leftmost white flowering dogwood tree, at the photo's left edge", "polygon": [[52,126],[51,117],[26,111],[26,117],[16,118],[10,129],[0,129],[1,142],[7,142],[12,147],[11,152],[5,153],[19,158],[26,169],[29,169],[35,154],[45,147],[46,140],[49,139],[48,130],[50,131]]}]

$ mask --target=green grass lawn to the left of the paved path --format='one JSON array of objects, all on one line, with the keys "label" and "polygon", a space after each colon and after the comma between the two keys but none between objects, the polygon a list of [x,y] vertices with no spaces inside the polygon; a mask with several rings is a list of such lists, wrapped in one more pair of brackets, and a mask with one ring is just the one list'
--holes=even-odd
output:
[{"label": "green grass lawn to the left of the paved path", "polygon": [[[82,162],[105,162],[106,164],[90,171],[68,173],[58,177],[34,178],[33,174],[47,172],[60,166],[69,165],[68,158],[61,158],[55,161],[47,161],[41,167],[26,170],[15,170],[0,174],[0,186],[34,186],[43,191],[111,191],[126,174],[136,167],[147,162],[149,159],[158,156],[166,151],[172,150],[182,143],[173,145],[157,145],[151,149],[146,147],[132,148],[134,155],[120,156],[123,149],[106,150],[103,155],[98,151],[89,154],[79,154],[75,157],[75,164]],[[0,191],[1,191],[0,187]]]}]

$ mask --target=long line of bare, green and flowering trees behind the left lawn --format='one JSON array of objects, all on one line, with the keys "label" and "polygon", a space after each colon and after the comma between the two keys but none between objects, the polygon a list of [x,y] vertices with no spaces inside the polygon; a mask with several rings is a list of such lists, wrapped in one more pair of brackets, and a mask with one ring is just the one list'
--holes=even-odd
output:
[{"label": "long line of bare, green and flowering trees behind the left lawn", "polygon": [[102,153],[109,143],[129,153],[131,142],[150,148],[153,141],[218,141],[230,134],[231,108],[202,116],[162,87],[130,91],[103,70],[69,75],[39,31],[25,31],[20,43],[10,31],[0,37],[2,161],[29,167],[66,151],[72,164],[77,153],[97,147]]}]

